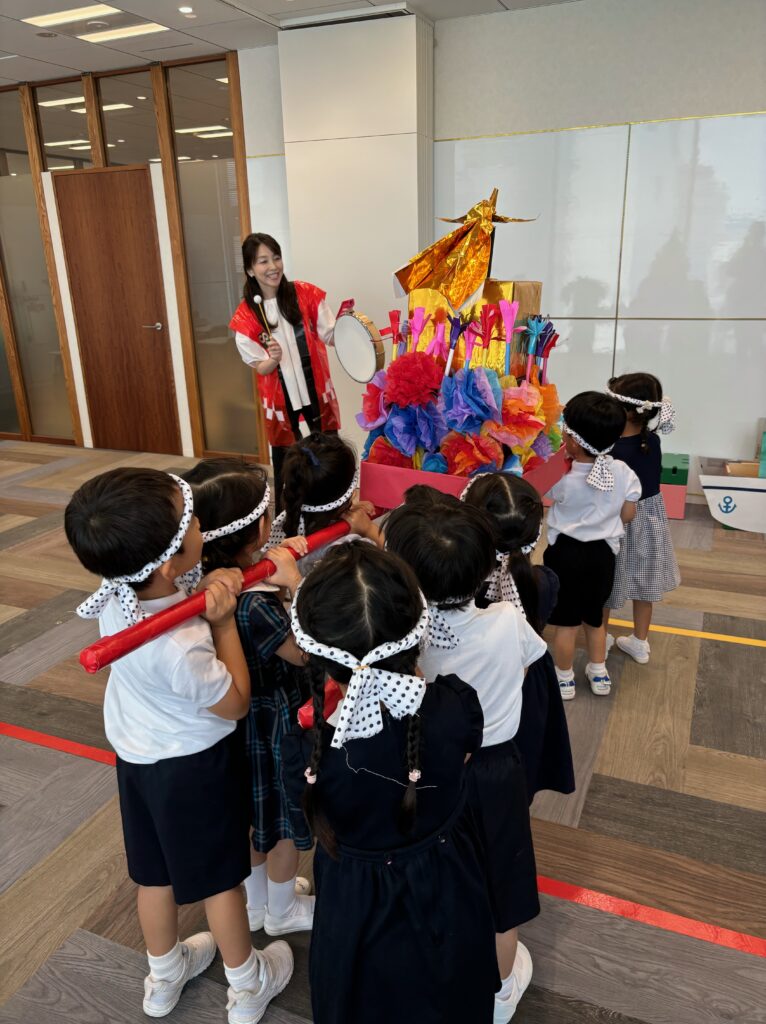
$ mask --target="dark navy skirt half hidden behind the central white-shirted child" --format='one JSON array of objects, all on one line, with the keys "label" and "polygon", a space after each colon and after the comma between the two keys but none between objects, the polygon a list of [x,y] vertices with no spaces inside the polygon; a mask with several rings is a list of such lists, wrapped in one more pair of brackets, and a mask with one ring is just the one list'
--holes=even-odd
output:
[{"label": "dark navy skirt half hidden behind the central white-shirted child", "polygon": [[548,651],[527,669],[521,689],[521,720],[513,738],[524,762],[529,803],[541,790],[574,792],[569,729]]}]

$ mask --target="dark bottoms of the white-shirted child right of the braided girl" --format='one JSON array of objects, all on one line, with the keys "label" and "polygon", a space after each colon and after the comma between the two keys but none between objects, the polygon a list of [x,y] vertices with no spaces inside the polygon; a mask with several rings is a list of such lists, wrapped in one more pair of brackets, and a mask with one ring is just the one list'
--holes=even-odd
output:
[{"label": "dark bottoms of the white-shirted child right of the braided girl", "polygon": [[524,765],[512,739],[482,746],[471,765],[469,799],[481,829],[495,930],[507,932],[540,913]]}]

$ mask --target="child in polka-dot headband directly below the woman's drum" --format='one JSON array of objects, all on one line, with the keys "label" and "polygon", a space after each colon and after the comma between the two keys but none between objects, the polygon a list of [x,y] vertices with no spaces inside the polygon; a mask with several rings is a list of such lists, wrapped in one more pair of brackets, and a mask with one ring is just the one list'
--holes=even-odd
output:
[{"label": "child in polka-dot headband directly below the woman's drum", "polygon": [[[282,544],[285,537],[305,537],[341,519],[348,519],[352,531],[336,544],[358,537],[382,544],[380,530],[370,519],[373,507],[369,502],[354,500],[358,486],[356,454],[342,437],[313,433],[293,444],[285,456],[283,479],[284,511],[271,525],[267,548]],[[326,551],[327,547],[322,547],[302,558],[301,575]]]}]

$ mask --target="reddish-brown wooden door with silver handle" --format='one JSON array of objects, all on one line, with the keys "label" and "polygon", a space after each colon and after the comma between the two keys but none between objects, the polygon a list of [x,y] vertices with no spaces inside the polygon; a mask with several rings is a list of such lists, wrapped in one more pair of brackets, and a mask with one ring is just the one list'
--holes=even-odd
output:
[{"label": "reddish-brown wooden door with silver handle", "polygon": [[180,454],[148,168],[59,171],[53,185],[93,444]]}]

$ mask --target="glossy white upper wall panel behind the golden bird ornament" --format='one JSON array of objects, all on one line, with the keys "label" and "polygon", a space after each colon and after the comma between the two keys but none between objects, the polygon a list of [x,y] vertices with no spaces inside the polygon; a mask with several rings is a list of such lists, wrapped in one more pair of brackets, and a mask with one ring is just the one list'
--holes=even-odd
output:
[{"label": "glossy white upper wall panel behind the golden bird ornament", "polygon": [[613,314],[627,145],[627,128],[437,142],[434,212],[460,216],[497,186],[498,213],[538,219],[496,226],[493,276],[542,281],[554,317]]}]

